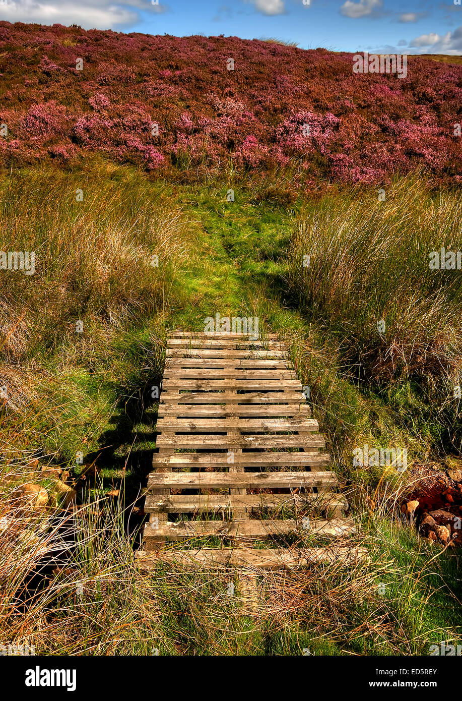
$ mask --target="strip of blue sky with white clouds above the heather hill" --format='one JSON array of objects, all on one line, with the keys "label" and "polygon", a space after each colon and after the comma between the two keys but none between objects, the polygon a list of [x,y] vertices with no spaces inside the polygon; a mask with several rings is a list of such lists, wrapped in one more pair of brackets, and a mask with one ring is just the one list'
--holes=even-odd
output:
[{"label": "strip of blue sky with white clouds above the heather hill", "polygon": [[460,0],[155,1],[0,0],[0,19],[175,36],[276,37],[302,48],[462,55]]}]

